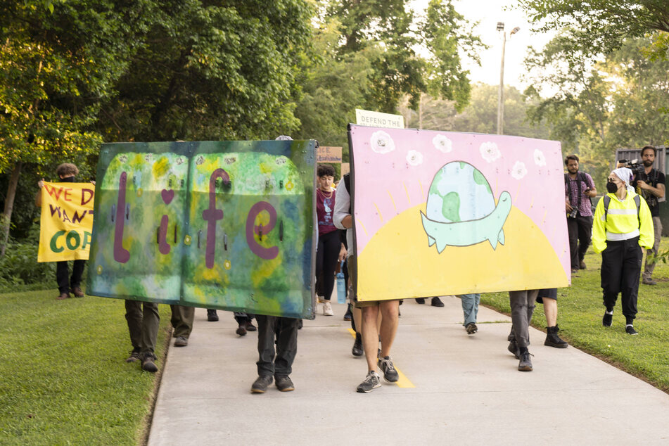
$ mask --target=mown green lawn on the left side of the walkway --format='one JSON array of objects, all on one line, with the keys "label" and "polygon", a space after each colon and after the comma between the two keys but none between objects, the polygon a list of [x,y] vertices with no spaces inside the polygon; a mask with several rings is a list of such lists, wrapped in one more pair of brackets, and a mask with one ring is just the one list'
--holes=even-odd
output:
[{"label": "mown green lawn on the left side of the walkway", "polygon": [[[0,444],[137,445],[158,376],[128,364],[123,300],[0,295]],[[163,367],[170,307],[160,305]]]}]

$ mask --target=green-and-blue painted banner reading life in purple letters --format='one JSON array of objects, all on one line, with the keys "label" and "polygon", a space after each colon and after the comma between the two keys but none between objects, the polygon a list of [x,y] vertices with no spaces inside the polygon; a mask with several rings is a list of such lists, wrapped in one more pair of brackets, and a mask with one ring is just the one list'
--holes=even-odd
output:
[{"label": "green-and-blue painted banner reading life in purple letters", "polygon": [[87,292],[313,318],[314,148],[104,144]]}]

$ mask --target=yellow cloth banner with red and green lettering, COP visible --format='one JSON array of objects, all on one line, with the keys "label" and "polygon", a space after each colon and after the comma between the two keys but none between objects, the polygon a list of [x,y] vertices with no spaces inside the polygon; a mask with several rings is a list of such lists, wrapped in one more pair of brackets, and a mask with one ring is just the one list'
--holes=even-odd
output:
[{"label": "yellow cloth banner with red and green lettering, COP visible", "polygon": [[90,183],[44,181],[37,262],[88,260],[94,193]]}]

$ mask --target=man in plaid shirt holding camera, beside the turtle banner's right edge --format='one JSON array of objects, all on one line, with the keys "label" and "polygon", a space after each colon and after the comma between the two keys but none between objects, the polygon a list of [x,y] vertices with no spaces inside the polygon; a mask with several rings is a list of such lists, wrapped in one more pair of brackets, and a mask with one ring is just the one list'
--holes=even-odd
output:
[{"label": "man in plaid shirt holding camera, beside the turtle banner's right edge", "polygon": [[592,177],[578,172],[578,156],[569,155],[564,160],[567,172],[564,174],[564,194],[566,197],[567,229],[571,252],[571,273],[585,269],[585,251],[590,246],[592,234],[592,206],[590,198],[597,196]]}]

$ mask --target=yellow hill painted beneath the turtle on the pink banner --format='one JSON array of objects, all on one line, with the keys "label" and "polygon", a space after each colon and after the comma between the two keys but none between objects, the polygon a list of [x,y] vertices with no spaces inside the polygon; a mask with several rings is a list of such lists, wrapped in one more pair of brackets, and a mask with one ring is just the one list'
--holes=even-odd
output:
[{"label": "yellow hill painted beneath the turtle on the pink banner", "polygon": [[386,300],[568,286],[558,256],[542,231],[511,208],[504,245],[428,246],[425,203],[402,212],[367,243],[358,259],[358,299]]}]

